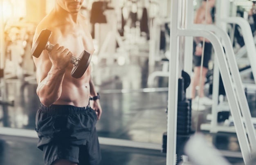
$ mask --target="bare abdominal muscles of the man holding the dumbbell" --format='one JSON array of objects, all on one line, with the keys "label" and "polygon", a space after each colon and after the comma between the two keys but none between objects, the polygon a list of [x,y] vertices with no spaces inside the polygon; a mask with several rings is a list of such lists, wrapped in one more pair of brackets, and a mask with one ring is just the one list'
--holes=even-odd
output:
[{"label": "bare abdominal muscles of the man holding the dumbbell", "polygon": [[88,106],[90,97],[90,72],[89,65],[84,75],[75,79],[71,76],[73,64],[66,69],[62,83],[61,97],[53,104],[58,105],[72,105],[76,107]]}]

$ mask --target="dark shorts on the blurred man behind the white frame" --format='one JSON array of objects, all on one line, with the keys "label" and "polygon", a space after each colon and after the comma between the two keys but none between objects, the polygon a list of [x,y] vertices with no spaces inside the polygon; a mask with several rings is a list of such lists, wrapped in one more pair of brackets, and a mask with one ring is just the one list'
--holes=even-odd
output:
[{"label": "dark shorts on the blurred man behind the white frame", "polygon": [[[202,56],[200,55],[195,55],[195,47],[196,47],[196,44],[194,42],[193,44],[193,63],[195,66],[201,66],[201,60],[202,60]],[[209,64],[209,61],[211,59],[211,50],[212,50],[212,45],[211,43],[209,42],[205,42],[204,44],[204,60],[203,60],[203,67],[204,68],[209,68],[208,64]]]}]

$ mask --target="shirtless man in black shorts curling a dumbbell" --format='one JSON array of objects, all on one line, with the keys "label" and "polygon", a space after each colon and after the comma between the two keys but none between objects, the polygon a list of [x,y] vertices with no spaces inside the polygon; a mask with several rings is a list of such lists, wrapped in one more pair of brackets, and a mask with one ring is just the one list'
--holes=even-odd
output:
[{"label": "shirtless man in black shorts curling a dumbbell", "polygon": [[[79,13],[82,4],[83,0],[55,0],[34,35],[33,44],[42,29],[49,29],[49,42],[55,44],[50,53],[44,50],[40,57],[33,57],[41,101],[36,132],[45,165],[97,165],[101,160],[95,125],[102,110],[91,66],[81,78],[71,76],[70,57],[79,57],[83,50],[94,52],[89,21]],[[94,99],[89,105],[90,98]]]}]

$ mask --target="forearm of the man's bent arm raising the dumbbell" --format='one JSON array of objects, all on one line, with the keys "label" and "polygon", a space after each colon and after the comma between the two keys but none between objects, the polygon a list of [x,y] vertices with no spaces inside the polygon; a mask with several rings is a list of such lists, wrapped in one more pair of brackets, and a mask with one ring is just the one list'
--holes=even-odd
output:
[{"label": "forearm of the man's bent arm raising the dumbbell", "polygon": [[47,77],[38,85],[37,94],[45,106],[52,105],[61,97],[64,74],[65,70],[52,67]]}]

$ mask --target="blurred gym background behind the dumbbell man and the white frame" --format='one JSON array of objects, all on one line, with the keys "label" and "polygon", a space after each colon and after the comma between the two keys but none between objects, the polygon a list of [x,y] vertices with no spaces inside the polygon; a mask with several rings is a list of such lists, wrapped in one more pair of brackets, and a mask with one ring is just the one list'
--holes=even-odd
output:
[{"label": "blurred gym background behind the dumbbell man and the white frame", "polygon": [[[193,0],[191,7],[198,9],[201,1]],[[229,3],[230,15],[247,20],[254,36],[256,12],[249,15],[254,2],[229,0]],[[34,131],[40,101],[30,50],[38,22],[53,6],[54,0],[0,0],[1,165],[43,165]],[[166,164],[170,10],[171,0],[83,2],[81,13],[88,18],[96,49],[91,75],[103,109],[97,123],[103,156],[101,165]],[[214,18],[214,8],[212,13]],[[256,86],[243,33],[236,24],[228,24],[227,32],[252,117],[256,117]],[[213,61],[205,86],[209,97]],[[214,112],[218,113],[218,125],[227,130],[200,127],[211,124],[210,106],[204,111],[192,111],[189,126],[192,132],[200,130],[229,163],[243,164],[221,81],[219,91],[218,110]]]}]

